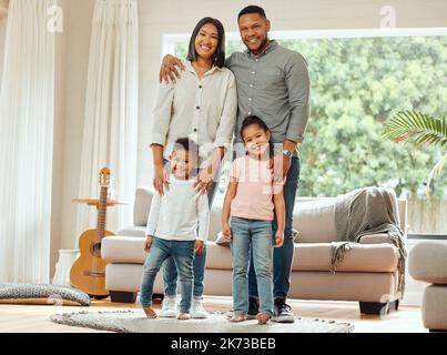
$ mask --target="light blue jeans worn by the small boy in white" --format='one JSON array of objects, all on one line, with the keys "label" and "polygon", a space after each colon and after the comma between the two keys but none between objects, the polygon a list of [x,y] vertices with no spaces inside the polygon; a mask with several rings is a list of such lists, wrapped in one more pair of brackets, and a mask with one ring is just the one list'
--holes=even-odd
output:
[{"label": "light blue jeans worn by the small boy in white", "polygon": [[144,308],[152,305],[154,281],[161,265],[166,258],[171,258],[180,275],[180,288],[182,293],[180,312],[190,313],[194,245],[195,241],[167,241],[154,236],[149,255],[144,262],[140,288],[140,302]]}]

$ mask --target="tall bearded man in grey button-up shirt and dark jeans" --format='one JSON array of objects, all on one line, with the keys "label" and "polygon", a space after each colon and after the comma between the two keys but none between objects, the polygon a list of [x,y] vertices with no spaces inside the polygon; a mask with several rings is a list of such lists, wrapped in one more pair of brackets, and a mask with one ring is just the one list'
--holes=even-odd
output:
[{"label": "tall bearded man in grey button-up shirt and dark jeans", "polygon": [[[233,71],[237,82],[237,123],[235,144],[242,122],[247,115],[258,115],[272,132],[276,160],[283,164],[285,200],[284,244],[274,250],[274,317],[273,321],[293,323],[294,315],[286,304],[294,254],[292,231],[293,210],[299,180],[298,145],[304,140],[309,118],[311,80],[305,59],[297,52],[281,47],[268,39],[271,21],[257,6],[248,6],[238,13],[241,39],[247,50],[233,53],[225,65]],[[181,61],[166,55],[160,71],[160,80],[175,81],[180,77],[175,67]],[[277,149],[280,146],[280,150]],[[274,222],[276,230],[276,223]],[[258,296],[253,258],[248,274],[248,315],[258,312]]]}]

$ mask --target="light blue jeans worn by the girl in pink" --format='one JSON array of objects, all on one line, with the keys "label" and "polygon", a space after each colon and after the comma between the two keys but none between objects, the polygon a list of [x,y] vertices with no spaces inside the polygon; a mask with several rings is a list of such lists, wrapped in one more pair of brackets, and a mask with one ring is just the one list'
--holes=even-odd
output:
[{"label": "light blue jeans worn by the girl in pink", "polygon": [[[272,221],[231,217],[233,256],[233,311],[248,312],[248,265],[253,260],[261,313],[273,314]],[[251,254],[253,257],[251,257]]]}]

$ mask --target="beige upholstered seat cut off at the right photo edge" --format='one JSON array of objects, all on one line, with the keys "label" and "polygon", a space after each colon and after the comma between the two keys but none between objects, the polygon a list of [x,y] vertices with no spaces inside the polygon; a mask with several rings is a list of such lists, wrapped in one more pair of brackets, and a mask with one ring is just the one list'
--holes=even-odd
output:
[{"label": "beige upholstered seat cut off at the right photo edge", "polygon": [[447,241],[420,242],[408,258],[413,278],[427,283],[423,297],[423,323],[430,332],[447,332]]}]

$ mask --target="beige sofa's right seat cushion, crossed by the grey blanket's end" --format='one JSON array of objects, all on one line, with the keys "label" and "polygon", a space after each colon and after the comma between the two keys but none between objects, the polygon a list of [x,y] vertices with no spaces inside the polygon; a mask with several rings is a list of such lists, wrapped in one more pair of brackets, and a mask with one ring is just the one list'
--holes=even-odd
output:
[{"label": "beige sofa's right seat cushion, crossed by the grey blanket's end", "polygon": [[[295,244],[293,271],[329,271],[331,243]],[[392,244],[355,244],[337,272],[395,272],[398,254]]]}]

